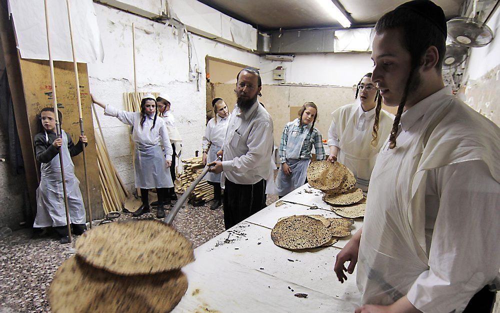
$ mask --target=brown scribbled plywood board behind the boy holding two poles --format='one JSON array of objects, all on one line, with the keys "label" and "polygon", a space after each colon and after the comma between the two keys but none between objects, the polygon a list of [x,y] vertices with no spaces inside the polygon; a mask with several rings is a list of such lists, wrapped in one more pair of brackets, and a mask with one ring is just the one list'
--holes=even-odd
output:
[{"label": "brown scribbled plywood board behind the boy holding two poles", "polygon": [[[28,126],[31,140],[39,131],[37,114],[45,107],[52,105],[52,87],[48,61],[19,60],[22,78],[22,87],[26,103]],[[78,107],[76,101],[76,86],[73,74],[73,64],[70,62],[54,62],[54,76],[57,96],[57,106],[62,113],[61,128],[71,136],[74,143],[78,142],[80,128],[78,122]],[[94,127],[90,107],[90,94],[88,89],[88,74],[86,64],[78,64],[78,77],[80,83],[81,106],[83,114],[84,133],[88,138],[86,147],[87,174],[89,179],[90,200],[93,218],[103,217],[102,198],[100,193],[99,173],[97,166],[97,153],[95,149]],[[24,126],[26,127],[26,126]],[[31,143],[32,146],[32,143]],[[31,155],[34,150],[31,149]],[[23,155],[23,157],[26,157]],[[80,190],[86,207],[85,179],[83,173],[83,154],[73,157],[75,175],[80,181]],[[39,170],[39,168],[38,168]],[[35,175],[35,173],[26,173]],[[30,190],[29,194],[35,194]]]}]

